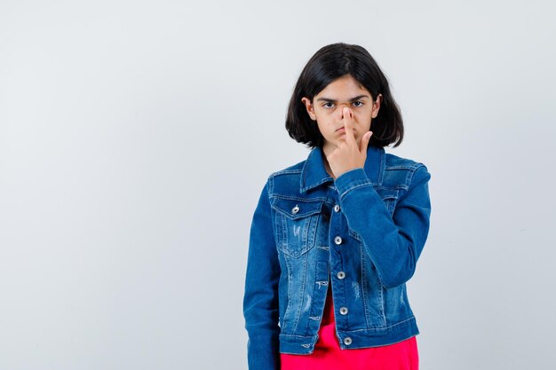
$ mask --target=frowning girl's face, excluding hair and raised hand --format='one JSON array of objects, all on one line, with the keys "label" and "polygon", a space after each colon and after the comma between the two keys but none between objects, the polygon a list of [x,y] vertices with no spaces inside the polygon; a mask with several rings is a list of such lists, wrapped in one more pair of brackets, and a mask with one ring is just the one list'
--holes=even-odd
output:
[{"label": "frowning girl's face, excluding hair and raised hand", "polygon": [[371,120],[377,117],[382,95],[378,94],[374,103],[372,98],[369,91],[352,75],[343,75],[315,95],[314,104],[309,98],[301,99],[324,138],[324,154],[330,154],[340,140],[346,140],[344,130],[340,130],[344,127],[342,111],[345,106],[351,110],[355,140],[361,144],[361,138],[370,129]]}]

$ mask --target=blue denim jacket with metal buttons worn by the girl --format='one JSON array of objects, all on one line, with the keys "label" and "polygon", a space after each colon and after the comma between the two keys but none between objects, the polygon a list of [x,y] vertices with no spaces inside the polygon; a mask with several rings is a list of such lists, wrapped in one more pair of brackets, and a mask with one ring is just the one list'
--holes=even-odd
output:
[{"label": "blue denim jacket with metal buttons worn by the girl", "polygon": [[250,227],[243,296],[250,370],[314,350],[331,284],[342,350],[419,334],[406,282],[429,231],[425,164],[369,146],[364,168],[334,179],[320,147],[272,173]]}]

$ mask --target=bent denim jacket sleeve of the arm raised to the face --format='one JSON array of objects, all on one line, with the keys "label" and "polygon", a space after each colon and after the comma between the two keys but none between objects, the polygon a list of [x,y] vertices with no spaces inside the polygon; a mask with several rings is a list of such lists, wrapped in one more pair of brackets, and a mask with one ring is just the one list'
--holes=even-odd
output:
[{"label": "bent denim jacket sleeve of the arm raised to the face", "polygon": [[386,288],[400,286],[413,276],[429,232],[431,175],[419,164],[393,216],[364,169],[349,170],[335,180],[348,227],[363,242]]}]

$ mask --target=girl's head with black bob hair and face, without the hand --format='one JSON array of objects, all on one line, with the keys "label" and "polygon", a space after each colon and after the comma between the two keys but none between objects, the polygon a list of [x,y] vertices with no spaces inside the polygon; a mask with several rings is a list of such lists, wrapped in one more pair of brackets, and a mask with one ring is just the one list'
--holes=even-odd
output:
[{"label": "girl's head with black bob hair and face, without the hand", "polygon": [[332,43],[309,59],[290,99],[286,130],[309,147],[330,146],[342,137],[342,110],[350,108],[357,142],[371,130],[369,146],[384,147],[403,138],[400,110],[385,75],[369,51]]}]

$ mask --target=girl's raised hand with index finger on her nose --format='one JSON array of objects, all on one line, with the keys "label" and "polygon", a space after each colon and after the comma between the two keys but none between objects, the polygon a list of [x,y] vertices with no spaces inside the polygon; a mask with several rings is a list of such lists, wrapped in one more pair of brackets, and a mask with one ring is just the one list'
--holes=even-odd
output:
[{"label": "girl's raised hand with index finger on her nose", "polygon": [[342,121],[346,128],[346,140],[340,140],[336,148],[326,157],[335,178],[352,169],[364,167],[367,160],[367,146],[372,135],[372,131],[365,132],[361,144],[358,145],[353,134],[353,113],[346,106],[343,109]]}]

